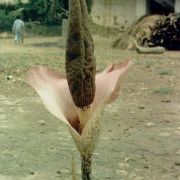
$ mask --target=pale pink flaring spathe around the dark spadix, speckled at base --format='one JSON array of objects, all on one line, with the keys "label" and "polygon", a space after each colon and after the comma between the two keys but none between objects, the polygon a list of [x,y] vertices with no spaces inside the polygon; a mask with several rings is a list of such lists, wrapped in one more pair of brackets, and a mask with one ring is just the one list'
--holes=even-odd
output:
[{"label": "pale pink flaring spathe around the dark spadix, speckled at base", "polygon": [[45,107],[69,126],[79,151],[88,154],[86,151],[92,153],[96,144],[104,106],[118,97],[122,77],[130,65],[131,61],[113,64],[97,74],[94,101],[86,109],[75,106],[64,75],[46,67],[35,67],[28,72],[27,82],[37,91]]}]

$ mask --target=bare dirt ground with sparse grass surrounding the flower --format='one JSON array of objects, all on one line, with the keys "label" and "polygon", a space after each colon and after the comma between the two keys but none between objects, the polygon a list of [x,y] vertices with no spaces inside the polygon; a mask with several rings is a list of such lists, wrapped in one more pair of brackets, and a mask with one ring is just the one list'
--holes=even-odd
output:
[{"label": "bare dirt ground with sparse grass surrounding the flower", "polygon": [[[17,46],[0,39],[0,180],[70,180],[72,153],[80,174],[66,125],[24,82],[33,66],[64,72],[61,40],[31,37]],[[105,109],[93,180],[180,180],[180,52],[139,55],[111,49],[111,39],[94,41],[98,71],[125,59],[133,66]]]}]

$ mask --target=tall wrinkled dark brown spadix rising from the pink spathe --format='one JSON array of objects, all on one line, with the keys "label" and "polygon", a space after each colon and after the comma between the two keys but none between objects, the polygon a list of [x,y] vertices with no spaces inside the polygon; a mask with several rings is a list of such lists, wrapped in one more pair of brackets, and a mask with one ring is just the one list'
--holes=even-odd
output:
[{"label": "tall wrinkled dark brown spadix rising from the pink spathe", "polygon": [[88,27],[84,0],[70,1],[66,45],[66,76],[70,93],[79,108],[89,106],[95,96],[94,44]]}]

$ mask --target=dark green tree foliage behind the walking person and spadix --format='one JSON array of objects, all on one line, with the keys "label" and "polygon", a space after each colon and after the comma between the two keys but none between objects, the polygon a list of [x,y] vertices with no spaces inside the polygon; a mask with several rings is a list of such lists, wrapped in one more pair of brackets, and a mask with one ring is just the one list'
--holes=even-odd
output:
[{"label": "dark green tree foliage behind the walking person and spadix", "polygon": [[[86,2],[90,12],[93,0]],[[8,16],[8,19],[15,19],[16,15],[21,15],[25,21],[60,24],[63,18],[68,17],[68,4],[68,0],[29,0],[26,4],[18,0],[16,4],[1,4],[0,13]]]}]

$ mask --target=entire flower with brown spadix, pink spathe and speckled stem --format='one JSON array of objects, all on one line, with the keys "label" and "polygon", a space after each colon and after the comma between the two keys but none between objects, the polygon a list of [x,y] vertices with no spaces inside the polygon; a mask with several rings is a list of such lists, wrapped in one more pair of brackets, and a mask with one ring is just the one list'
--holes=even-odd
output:
[{"label": "entire flower with brown spadix, pink spathe and speckled stem", "polygon": [[28,72],[27,81],[45,107],[69,127],[81,155],[82,179],[91,179],[91,158],[101,129],[105,104],[119,94],[130,61],[108,66],[95,75],[94,46],[84,0],[70,0],[66,76],[46,67]]}]

